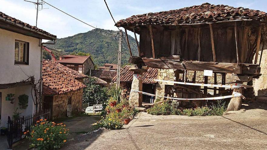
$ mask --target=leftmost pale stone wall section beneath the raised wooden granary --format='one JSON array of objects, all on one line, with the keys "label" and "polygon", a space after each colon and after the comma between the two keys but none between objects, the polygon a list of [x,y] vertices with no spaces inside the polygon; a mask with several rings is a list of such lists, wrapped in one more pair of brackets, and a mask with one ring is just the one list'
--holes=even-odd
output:
[{"label": "leftmost pale stone wall section beneath the raised wooden granary", "polygon": [[[175,79],[175,73],[174,69],[158,69],[158,79],[159,80],[169,80],[169,81],[174,81]],[[174,85],[173,83],[166,83],[166,82],[158,82],[156,84],[156,95],[162,95],[164,96],[165,93],[165,85]],[[163,100],[164,98],[156,96],[155,99],[161,99]]]}]

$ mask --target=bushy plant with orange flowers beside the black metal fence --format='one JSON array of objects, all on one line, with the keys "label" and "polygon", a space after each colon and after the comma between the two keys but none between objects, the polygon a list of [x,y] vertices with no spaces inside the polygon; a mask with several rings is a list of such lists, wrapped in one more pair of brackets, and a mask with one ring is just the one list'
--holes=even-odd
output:
[{"label": "bushy plant with orange flowers beside the black metal fence", "polygon": [[59,149],[66,143],[66,136],[69,131],[65,129],[63,123],[56,124],[55,122],[48,122],[40,119],[34,126],[31,126],[32,132],[24,132],[29,134],[27,138],[32,142],[31,148],[37,150],[44,149]]}]

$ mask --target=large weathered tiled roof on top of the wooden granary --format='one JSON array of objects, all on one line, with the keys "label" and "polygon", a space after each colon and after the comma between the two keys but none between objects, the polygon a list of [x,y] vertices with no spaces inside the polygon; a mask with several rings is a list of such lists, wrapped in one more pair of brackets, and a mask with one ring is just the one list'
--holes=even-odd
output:
[{"label": "large weathered tiled roof on top of the wooden granary", "polygon": [[[218,22],[240,18],[266,18],[266,12],[248,8],[234,8],[228,5],[211,5],[204,3],[176,10],[133,15],[118,21],[117,27],[145,25],[145,24],[185,24],[201,22]],[[226,20],[225,20],[226,19]]]}]

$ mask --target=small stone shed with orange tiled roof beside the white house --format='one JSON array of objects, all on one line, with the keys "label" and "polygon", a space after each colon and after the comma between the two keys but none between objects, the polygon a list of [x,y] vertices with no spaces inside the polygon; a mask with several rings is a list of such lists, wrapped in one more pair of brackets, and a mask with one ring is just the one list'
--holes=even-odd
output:
[{"label": "small stone shed with orange tiled roof beside the white house", "polygon": [[42,63],[43,107],[53,119],[67,116],[68,105],[72,114],[81,112],[86,75],[51,60]]}]

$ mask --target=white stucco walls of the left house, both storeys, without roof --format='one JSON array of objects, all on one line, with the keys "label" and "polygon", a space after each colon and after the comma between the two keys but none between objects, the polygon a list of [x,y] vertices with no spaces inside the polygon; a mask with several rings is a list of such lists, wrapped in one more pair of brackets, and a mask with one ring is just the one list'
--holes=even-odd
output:
[{"label": "white stucco walls of the left house, both storeys, without roof", "polygon": [[[14,64],[15,40],[29,42],[29,65]],[[32,75],[35,76],[36,80],[39,80],[41,69],[41,48],[39,47],[39,42],[38,38],[0,29],[0,84],[20,82]],[[35,112],[31,88],[31,85],[25,85],[16,88],[0,89],[0,92],[2,92],[2,124],[0,127],[7,126],[8,116],[12,116],[16,108],[18,108],[18,112],[22,112],[22,115],[30,115]],[[5,97],[9,93],[15,94],[14,104],[10,104],[10,101],[5,101]],[[29,103],[26,109],[20,110],[18,96],[22,94],[29,96]]]}]

